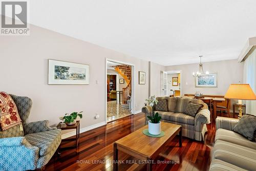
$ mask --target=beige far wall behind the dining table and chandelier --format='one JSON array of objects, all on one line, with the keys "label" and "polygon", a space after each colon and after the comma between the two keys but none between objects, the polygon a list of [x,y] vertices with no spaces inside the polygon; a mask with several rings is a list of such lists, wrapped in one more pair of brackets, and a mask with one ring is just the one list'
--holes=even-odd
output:
[{"label": "beige far wall behind the dining table and chandelier", "polygon": [[198,63],[169,66],[166,71],[181,70],[181,90],[182,94],[195,94],[200,91],[203,94],[224,95],[231,83],[243,82],[243,63],[235,60],[223,60],[214,62],[204,62],[204,71],[218,72],[217,88],[196,88],[195,78],[192,73],[199,69]]}]

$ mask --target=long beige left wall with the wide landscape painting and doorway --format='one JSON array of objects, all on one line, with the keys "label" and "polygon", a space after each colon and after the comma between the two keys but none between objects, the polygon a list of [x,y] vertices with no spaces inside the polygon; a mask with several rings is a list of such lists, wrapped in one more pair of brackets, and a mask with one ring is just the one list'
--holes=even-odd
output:
[{"label": "long beige left wall with the wide landscape painting and doorway", "polygon": [[[32,98],[29,121],[48,119],[54,125],[65,113],[84,111],[81,128],[104,122],[106,58],[132,63],[136,78],[138,71],[146,72],[145,85],[135,79],[135,111],[141,110],[148,97],[145,60],[33,25],[29,36],[1,36],[0,44],[0,91]],[[48,59],[90,65],[90,84],[48,85]],[[99,119],[94,119],[96,113]]]}]

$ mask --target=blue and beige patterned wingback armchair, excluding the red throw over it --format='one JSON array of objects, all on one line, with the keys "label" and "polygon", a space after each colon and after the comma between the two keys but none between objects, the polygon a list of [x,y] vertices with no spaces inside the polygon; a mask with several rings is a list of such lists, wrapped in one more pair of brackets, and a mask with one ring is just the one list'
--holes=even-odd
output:
[{"label": "blue and beige patterned wingback armchair, excluding the red throw over it", "polygon": [[61,142],[61,130],[49,127],[48,120],[29,123],[32,100],[10,96],[22,125],[0,131],[0,170],[44,169]]}]

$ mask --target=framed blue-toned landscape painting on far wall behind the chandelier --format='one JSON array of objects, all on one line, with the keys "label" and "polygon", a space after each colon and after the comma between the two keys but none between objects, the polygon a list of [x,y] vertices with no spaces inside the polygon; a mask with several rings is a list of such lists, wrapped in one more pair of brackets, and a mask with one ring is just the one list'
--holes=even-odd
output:
[{"label": "framed blue-toned landscape painting on far wall behind the chandelier", "polygon": [[217,72],[209,73],[208,76],[196,77],[196,87],[217,87],[218,74]]}]

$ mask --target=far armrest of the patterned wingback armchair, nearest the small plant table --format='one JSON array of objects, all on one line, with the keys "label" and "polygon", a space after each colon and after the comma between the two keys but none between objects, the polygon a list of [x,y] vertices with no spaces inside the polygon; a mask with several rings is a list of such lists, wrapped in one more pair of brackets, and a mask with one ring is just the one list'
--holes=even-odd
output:
[{"label": "far armrest of the patterned wingback armchair, nearest the small plant table", "polygon": [[48,120],[41,120],[36,122],[29,122],[24,124],[24,133],[26,134],[33,134],[45,131],[51,131],[57,129],[56,127],[50,127]]}]

